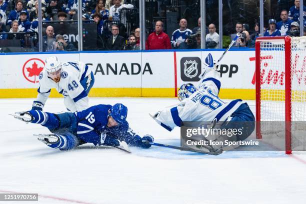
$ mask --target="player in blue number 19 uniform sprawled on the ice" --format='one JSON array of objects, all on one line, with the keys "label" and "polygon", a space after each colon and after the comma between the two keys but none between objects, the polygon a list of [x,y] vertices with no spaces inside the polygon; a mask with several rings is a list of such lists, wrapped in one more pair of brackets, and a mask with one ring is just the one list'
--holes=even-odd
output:
[{"label": "player in blue number 19 uniform sprawled on the ice", "polygon": [[50,113],[41,110],[17,112],[16,118],[47,127],[53,134],[37,135],[52,148],[73,149],[83,143],[94,145],[150,147],[154,139],[135,134],[126,121],[127,107],[121,103],[99,104],[79,112]]}]

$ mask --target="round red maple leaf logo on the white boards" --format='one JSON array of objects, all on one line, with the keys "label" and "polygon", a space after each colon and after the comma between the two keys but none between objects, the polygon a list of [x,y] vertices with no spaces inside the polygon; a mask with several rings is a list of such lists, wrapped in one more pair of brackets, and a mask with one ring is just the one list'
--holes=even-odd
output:
[{"label": "round red maple leaf logo on the white boards", "polygon": [[22,74],[31,83],[38,83],[39,73],[44,67],[44,62],[39,58],[30,58],[23,64]]}]

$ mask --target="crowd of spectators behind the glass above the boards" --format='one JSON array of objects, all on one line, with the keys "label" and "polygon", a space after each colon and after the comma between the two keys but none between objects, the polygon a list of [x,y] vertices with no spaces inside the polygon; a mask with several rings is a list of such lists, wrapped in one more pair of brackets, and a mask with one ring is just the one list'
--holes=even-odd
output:
[{"label": "crowd of spectators behind the glass above the boards", "polygon": [[[41,0],[42,21],[73,21],[78,17],[77,0]],[[128,0],[82,0],[82,20],[96,24],[97,42],[95,49],[101,50],[137,50],[140,45],[140,29],[131,27],[130,12],[137,6]],[[130,10],[128,16],[127,12]],[[306,11],[306,6],[303,8]],[[0,0],[0,39],[21,39],[17,32],[38,32],[38,1],[37,0]],[[304,23],[306,35],[306,18],[299,17],[299,0],[294,0],[294,5],[288,9],[281,9],[279,20],[269,19],[264,27],[263,36],[299,36],[299,21]],[[110,22],[110,23],[109,23]],[[219,48],[219,35],[215,21],[211,20],[205,27],[205,47]],[[185,18],[178,20],[177,29],[173,33],[166,33],[162,20],[154,21],[153,32],[149,33],[146,49],[189,49],[200,48],[200,18],[197,26],[188,28]],[[194,24],[194,23],[193,23]],[[131,29],[132,28],[132,29]],[[254,42],[259,34],[259,24],[255,23],[250,28],[247,22],[236,22],[235,32],[241,33],[234,47],[254,47]],[[7,34],[3,34],[7,33]],[[43,30],[43,51],[76,50],[73,43],[60,34],[56,34],[52,25]]]}]

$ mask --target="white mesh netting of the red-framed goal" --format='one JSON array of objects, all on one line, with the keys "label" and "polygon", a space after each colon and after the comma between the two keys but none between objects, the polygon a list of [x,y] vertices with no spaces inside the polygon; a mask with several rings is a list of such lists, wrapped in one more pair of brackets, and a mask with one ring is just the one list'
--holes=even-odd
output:
[{"label": "white mesh netting of the red-framed goal", "polygon": [[[285,121],[284,39],[260,41],[260,120]],[[306,37],[291,38],[291,148],[306,150]],[[284,122],[261,122],[262,135],[285,137]]]}]

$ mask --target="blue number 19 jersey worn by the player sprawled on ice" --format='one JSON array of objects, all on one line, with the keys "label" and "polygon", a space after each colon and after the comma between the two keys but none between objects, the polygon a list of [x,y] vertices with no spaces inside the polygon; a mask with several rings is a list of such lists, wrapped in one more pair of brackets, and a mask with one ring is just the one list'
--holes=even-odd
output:
[{"label": "blue number 19 jersey worn by the player sprawled on ice", "polygon": [[101,145],[106,135],[129,143],[135,133],[131,130],[128,131],[130,128],[126,120],[120,125],[107,127],[108,110],[110,108],[111,105],[99,104],[75,112],[74,114],[78,119],[77,136],[95,145]]}]

